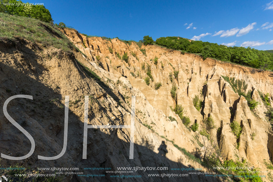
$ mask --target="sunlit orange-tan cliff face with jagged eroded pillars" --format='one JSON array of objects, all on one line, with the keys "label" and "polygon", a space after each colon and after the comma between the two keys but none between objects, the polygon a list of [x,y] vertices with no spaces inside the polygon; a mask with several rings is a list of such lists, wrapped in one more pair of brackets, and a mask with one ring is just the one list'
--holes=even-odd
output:
[{"label": "sunlit orange-tan cliff face with jagged eroded pillars", "polygon": [[[136,115],[139,122],[151,125],[154,130],[143,133],[142,137],[152,141],[151,144],[156,149],[162,138],[155,142],[153,139],[155,136],[165,136],[191,153],[201,147],[197,141],[201,137],[199,132],[188,130],[179,116],[170,109],[170,106],[174,108],[178,104],[184,107],[184,115],[190,118],[190,125],[197,122],[200,128],[204,125],[203,119],[209,116],[214,119],[216,127],[210,134],[213,140],[218,141],[224,160],[246,159],[250,165],[269,170],[264,160],[272,161],[272,129],[265,113],[273,106],[272,72],[210,58],[203,60],[198,55],[182,54],[180,51],[155,45],[139,47],[134,42],[129,45],[118,39],[109,41],[99,37],[87,38],[72,29],[61,31],[87,56],[83,56],[85,59],[81,63],[95,71],[105,81],[108,80],[109,85],[117,88],[125,97],[125,101],[128,101],[128,105],[131,102],[131,95],[136,95]],[[140,49],[145,49],[146,55]],[[129,56],[128,63],[117,56],[118,53],[122,57],[126,52]],[[152,61],[155,57],[158,57],[157,65]],[[142,69],[143,65],[145,69]],[[150,80],[150,85],[144,81],[147,77],[147,65],[150,65],[154,79],[153,82]],[[173,71],[179,71],[179,74],[177,78],[171,76],[173,79],[171,82],[169,73]],[[246,98],[237,93],[238,90],[227,81],[227,77],[237,82],[239,80],[244,94],[250,91],[251,99],[258,101],[260,105],[250,110]],[[156,82],[162,83],[157,90],[154,86]],[[175,99],[170,93],[173,84],[178,88]],[[266,93],[269,93],[270,97],[269,107],[260,96]],[[202,101],[199,111],[193,104],[195,96]],[[168,116],[174,117],[177,122],[171,122]],[[237,121],[242,127],[238,139],[231,132],[230,123],[233,121]],[[139,134],[141,136],[141,133]],[[135,142],[140,144],[138,139]],[[174,154],[170,154],[167,153],[166,157],[176,158]]]}]

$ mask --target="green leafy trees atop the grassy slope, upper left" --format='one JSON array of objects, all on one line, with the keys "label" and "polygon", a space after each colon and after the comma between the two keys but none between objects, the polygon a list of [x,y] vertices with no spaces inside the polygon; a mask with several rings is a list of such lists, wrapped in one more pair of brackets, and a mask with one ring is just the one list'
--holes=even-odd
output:
[{"label": "green leafy trees atop the grassy slope, upper left", "polygon": [[[0,1],[0,12],[9,13],[11,15],[25,16],[29,18],[35,18],[47,23],[52,22],[51,14],[48,9],[43,5],[23,4],[22,1],[10,0]],[[2,3],[10,3],[10,5],[4,5]],[[15,5],[12,5],[14,3]]]}]

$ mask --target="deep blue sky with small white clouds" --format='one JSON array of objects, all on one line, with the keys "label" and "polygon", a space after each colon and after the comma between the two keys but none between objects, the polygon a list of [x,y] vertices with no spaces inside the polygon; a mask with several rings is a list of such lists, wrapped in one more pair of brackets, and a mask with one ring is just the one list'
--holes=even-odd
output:
[{"label": "deep blue sky with small white clouds", "polygon": [[154,40],[180,36],[228,46],[273,49],[272,0],[28,2],[44,3],[54,23],[64,22],[88,35],[135,41],[144,35]]}]

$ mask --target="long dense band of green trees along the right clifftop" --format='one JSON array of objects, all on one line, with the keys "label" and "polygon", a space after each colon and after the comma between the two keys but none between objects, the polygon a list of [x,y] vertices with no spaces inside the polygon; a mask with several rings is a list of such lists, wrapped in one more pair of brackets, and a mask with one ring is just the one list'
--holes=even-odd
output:
[{"label": "long dense band of green trees along the right clifftop", "polygon": [[169,49],[201,54],[204,58],[211,57],[259,69],[273,69],[272,53],[250,47],[227,47],[202,41],[190,42],[188,39],[178,37],[160,37],[155,43]]}]

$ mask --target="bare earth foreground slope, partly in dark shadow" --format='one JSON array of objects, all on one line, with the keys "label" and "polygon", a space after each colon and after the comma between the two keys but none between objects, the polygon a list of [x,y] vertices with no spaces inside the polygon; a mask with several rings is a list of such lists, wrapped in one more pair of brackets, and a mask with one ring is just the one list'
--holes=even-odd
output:
[{"label": "bare earth foreground slope, partly in dark shadow", "polygon": [[[97,40],[94,40],[97,41]],[[97,41],[99,43],[99,41]],[[116,41],[126,46],[120,41]],[[101,43],[105,43],[101,40]],[[106,44],[106,43],[105,43]],[[76,44],[77,45],[77,44]],[[167,109],[169,102],[174,104],[166,92],[168,101],[161,101],[156,107],[156,100],[151,102],[154,91],[143,84],[141,79],[130,78],[128,70],[121,76],[113,68],[110,60],[96,61],[96,52],[92,49],[88,58],[80,52],[63,52],[50,46],[32,43],[22,38],[15,41],[2,39],[0,41],[0,105],[11,96],[24,94],[33,96],[30,99],[13,99],[7,106],[10,116],[21,125],[35,140],[35,151],[31,157],[13,161],[1,158],[1,166],[24,165],[25,167],[78,167],[84,174],[94,174],[84,167],[111,168],[117,167],[168,167],[169,170],[138,170],[133,175],[141,175],[138,181],[223,181],[221,177],[211,178],[203,175],[188,177],[149,177],[147,174],[177,173],[187,174],[187,171],[171,171],[170,168],[202,168],[202,172],[212,172],[196,161],[189,159],[175,147],[184,146],[192,153],[199,147],[194,135],[178,120],[175,114]],[[97,46],[98,47],[98,46]],[[101,46],[103,47],[103,46]],[[119,48],[119,49],[120,49]],[[82,48],[80,48],[82,49]],[[137,49],[137,47],[135,47]],[[83,49],[82,49],[83,50]],[[105,56],[100,56],[105,60]],[[110,56],[110,55],[109,55]],[[94,59],[94,60],[93,60]],[[131,61],[132,58],[130,58]],[[113,59],[114,60],[114,59]],[[93,79],[91,72],[81,66],[92,69],[101,77]],[[121,64],[116,58],[115,64]],[[107,65],[109,67],[107,68]],[[102,69],[102,67],[104,69]],[[127,68],[126,68],[127,69]],[[152,68],[154,70],[155,68]],[[111,71],[110,71],[111,70]],[[154,74],[154,73],[153,73]],[[159,74],[159,73],[158,73]],[[94,74],[93,74],[94,75]],[[162,77],[163,78],[163,77]],[[117,83],[117,80],[120,80]],[[156,79],[156,78],[155,78]],[[108,80],[108,81],[107,81]],[[133,85],[142,84],[142,88]],[[165,89],[169,86],[164,84]],[[162,92],[163,95],[164,92]],[[88,129],[87,159],[82,159],[84,131],[84,96],[89,96],[88,125],[130,125],[131,96],[136,96],[136,117],[134,133],[134,159],[129,159],[130,128],[123,129]],[[160,95],[156,94],[159,99]],[[63,148],[64,136],[64,105],[65,96],[69,96],[68,112],[68,143],[65,154],[57,160],[40,160],[38,155],[52,157],[58,155]],[[160,109],[160,107],[165,108]],[[10,156],[24,156],[29,153],[31,143],[26,136],[13,126],[4,116],[1,109],[1,153]],[[169,112],[166,115],[166,112]],[[196,112],[197,113],[197,112]],[[177,118],[171,122],[167,116]],[[201,115],[200,115],[201,117]],[[152,129],[144,126],[151,125]],[[48,172],[48,171],[47,171]],[[105,170],[96,171],[96,175],[104,177],[80,177],[67,175],[64,181],[135,181],[135,178],[111,178]],[[132,173],[122,173],[132,175]],[[14,179],[15,181],[18,178]]]}]

